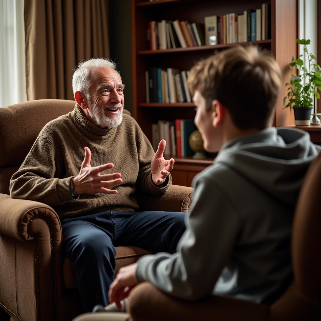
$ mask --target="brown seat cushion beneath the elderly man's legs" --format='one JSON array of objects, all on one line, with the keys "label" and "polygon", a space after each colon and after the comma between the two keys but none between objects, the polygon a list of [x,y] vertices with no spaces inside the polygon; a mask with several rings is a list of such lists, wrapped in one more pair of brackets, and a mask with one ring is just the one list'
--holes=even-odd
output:
[{"label": "brown seat cushion beneath the elderly man's legs", "polygon": [[[115,275],[118,273],[122,266],[126,266],[135,263],[140,257],[146,254],[151,254],[140,247],[134,246],[119,246],[116,248],[116,267]],[[63,265],[63,277],[66,288],[77,288],[76,279],[74,276],[73,263],[69,257],[65,257]]]}]

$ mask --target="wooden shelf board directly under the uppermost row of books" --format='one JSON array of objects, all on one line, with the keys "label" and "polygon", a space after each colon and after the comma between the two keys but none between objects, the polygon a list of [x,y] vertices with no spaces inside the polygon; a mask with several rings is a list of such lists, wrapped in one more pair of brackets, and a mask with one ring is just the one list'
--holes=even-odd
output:
[{"label": "wooden shelf board directly under the uppermost row of books", "polygon": [[263,44],[271,44],[271,39],[268,40],[259,40],[259,41],[247,41],[247,42],[238,42],[232,44],[219,44],[214,46],[194,46],[194,47],[187,47],[187,48],[172,48],[172,49],[165,49],[165,50],[140,50],[138,51],[138,55],[157,55],[157,54],[172,54],[172,53],[182,53],[182,52],[189,52],[189,51],[207,51],[207,50],[215,50],[215,49],[225,49],[230,48],[233,46],[246,46],[246,45],[263,45]]}]

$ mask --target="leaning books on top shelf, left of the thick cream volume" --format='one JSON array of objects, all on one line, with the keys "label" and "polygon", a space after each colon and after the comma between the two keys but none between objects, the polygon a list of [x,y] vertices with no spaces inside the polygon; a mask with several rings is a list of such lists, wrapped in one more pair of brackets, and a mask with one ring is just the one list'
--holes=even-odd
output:
[{"label": "leaning books on top shelf, left of the thick cream volume", "polygon": [[204,31],[195,22],[149,21],[147,42],[151,50],[204,46]]}]

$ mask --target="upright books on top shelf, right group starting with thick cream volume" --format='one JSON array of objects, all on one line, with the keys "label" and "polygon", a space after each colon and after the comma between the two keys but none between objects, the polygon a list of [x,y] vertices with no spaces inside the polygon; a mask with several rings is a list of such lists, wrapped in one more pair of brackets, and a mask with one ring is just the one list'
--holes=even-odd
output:
[{"label": "upright books on top shelf, right group starting with thick cream volume", "polygon": [[209,16],[205,22],[205,44],[231,44],[271,38],[271,5],[244,10],[243,14],[228,13]]}]

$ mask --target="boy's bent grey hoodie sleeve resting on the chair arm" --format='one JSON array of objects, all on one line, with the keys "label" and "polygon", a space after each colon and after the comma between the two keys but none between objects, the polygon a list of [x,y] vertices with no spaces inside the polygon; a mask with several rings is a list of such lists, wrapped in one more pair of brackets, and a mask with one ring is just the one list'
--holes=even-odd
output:
[{"label": "boy's bent grey hoodie sleeve resting on the chair arm", "polygon": [[228,263],[239,230],[239,215],[228,197],[203,177],[196,181],[193,207],[185,223],[177,253],[143,256],[136,278],[178,298],[200,299],[213,292]]}]

